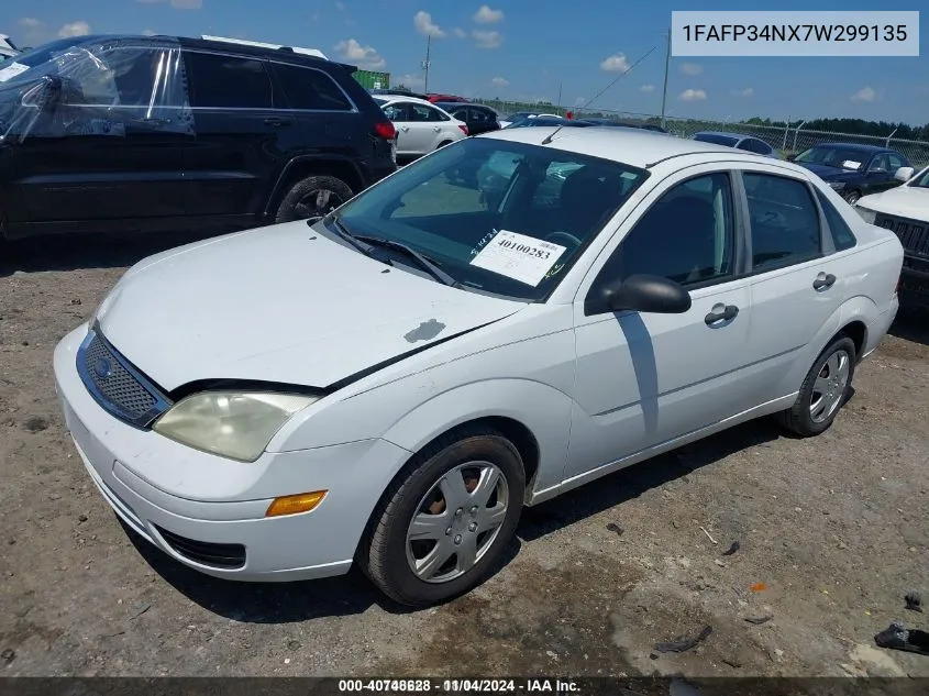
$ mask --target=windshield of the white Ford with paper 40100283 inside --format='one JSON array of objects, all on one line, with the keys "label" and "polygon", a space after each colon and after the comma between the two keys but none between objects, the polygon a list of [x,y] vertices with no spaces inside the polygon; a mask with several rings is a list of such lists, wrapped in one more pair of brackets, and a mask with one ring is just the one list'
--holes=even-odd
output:
[{"label": "windshield of the white Ford with paper 40100283 inside", "polygon": [[469,139],[338,211],[354,235],[400,242],[461,287],[544,300],[648,173],[576,153]]}]

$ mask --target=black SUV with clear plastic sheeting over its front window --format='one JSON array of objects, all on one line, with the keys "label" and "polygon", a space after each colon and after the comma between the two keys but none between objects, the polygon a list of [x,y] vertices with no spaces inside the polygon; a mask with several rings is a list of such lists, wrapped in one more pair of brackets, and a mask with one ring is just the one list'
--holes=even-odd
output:
[{"label": "black SUV with clear plastic sheeting over its front window", "polygon": [[328,212],[397,168],[396,130],[354,71],[168,36],[16,56],[0,75],[0,233],[196,232]]}]

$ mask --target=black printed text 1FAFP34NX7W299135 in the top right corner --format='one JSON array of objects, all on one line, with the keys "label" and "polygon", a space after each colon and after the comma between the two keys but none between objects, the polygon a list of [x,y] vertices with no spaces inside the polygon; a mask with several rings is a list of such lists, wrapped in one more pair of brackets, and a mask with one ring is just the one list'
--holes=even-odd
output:
[{"label": "black printed text 1FAFP34NX7W299135 in the top right corner", "polygon": [[685,24],[685,41],[904,42],[906,24]]}]

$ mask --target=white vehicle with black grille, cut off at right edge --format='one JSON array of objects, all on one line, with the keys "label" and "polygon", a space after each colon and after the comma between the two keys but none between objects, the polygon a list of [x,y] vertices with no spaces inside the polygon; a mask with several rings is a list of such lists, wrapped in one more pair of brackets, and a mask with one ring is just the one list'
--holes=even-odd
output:
[{"label": "white vehicle with black grille, cut off at right edge", "polygon": [[860,198],[855,210],[865,222],[900,237],[905,252],[900,301],[929,307],[929,167],[916,176],[911,167],[903,167],[895,178],[905,183]]}]

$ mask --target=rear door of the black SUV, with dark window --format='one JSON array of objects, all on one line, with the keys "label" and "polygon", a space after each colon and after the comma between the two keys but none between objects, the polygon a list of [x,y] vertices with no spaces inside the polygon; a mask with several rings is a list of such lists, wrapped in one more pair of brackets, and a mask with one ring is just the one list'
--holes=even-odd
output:
[{"label": "rear door of the black SUV, with dark window", "polygon": [[268,65],[253,56],[185,49],[196,135],[184,152],[185,205],[196,216],[264,210],[297,137]]}]

